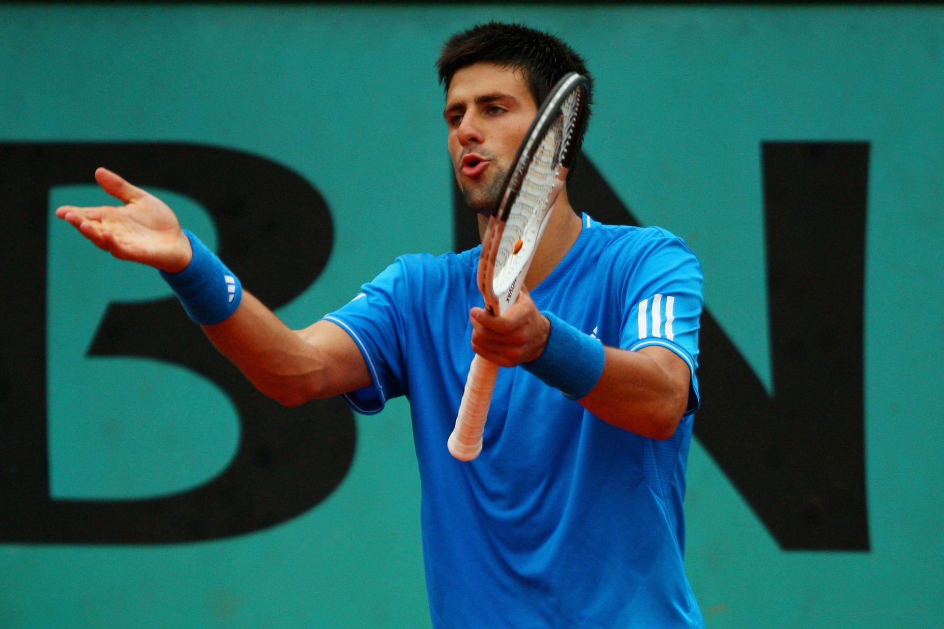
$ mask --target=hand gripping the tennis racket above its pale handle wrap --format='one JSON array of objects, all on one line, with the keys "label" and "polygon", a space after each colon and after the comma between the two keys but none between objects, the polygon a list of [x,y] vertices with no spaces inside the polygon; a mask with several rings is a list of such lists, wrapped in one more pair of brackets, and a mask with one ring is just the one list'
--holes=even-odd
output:
[{"label": "hand gripping the tennis racket above its pale handle wrap", "polygon": [[472,349],[501,367],[514,367],[541,356],[548,343],[550,322],[537,309],[528,290],[522,289],[501,317],[480,307],[469,313]]}]

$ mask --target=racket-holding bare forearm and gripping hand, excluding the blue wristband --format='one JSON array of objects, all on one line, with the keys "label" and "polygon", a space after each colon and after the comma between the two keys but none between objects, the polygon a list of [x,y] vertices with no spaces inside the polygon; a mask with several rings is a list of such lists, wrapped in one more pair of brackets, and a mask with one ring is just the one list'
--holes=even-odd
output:
[{"label": "racket-holding bare forearm and gripping hand, excluding the blue wristband", "polygon": [[[548,342],[550,323],[522,291],[503,317],[473,308],[472,348],[503,367],[531,362]],[[600,379],[580,403],[604,422],[651,439],[668,439],[688,404],[691,374],[682,358],[664,347],[638,352],[605,348]]]}]

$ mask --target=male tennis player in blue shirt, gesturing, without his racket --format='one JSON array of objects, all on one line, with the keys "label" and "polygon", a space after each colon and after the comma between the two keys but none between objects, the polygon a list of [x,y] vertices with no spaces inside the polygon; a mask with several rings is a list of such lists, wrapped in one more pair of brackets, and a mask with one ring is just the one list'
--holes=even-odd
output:
[{"label": "male tennis player in blue shirt, gesturing, without his racket", "polygon": [[[589,74],[563,41],[495,23],[451,37],[438,68],[449,156],[481,225],[550,87]],[[366,414],[410,399],[434,627],[703,626],[683,570],[701,270],[682,240],[597,223],[564,190],[530,290],[504,316],[481,307],[477,247],[398,257],[292,331],[159,199],[105,169],[95,178],[126,205],[57,216],[159,269],[263,393],[290,406],[344,395]],[[464,463],[446,444],[473,352],[508,369],[482,453]]]}]

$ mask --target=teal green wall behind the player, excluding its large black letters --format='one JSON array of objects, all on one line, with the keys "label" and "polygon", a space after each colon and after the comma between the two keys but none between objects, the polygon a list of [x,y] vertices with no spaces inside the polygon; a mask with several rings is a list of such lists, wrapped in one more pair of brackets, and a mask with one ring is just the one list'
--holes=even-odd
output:
[{"label": "teal green wall behind the player, excluding its large black letters", "polygon": [[[871,549],[780,550],[696,442],[687,571],[713,629],[940,626],[941,8],[3,7],[0,141],[211,143],[301,174],[335,225],[325,272],[278,310],[301,327],[396,255],[450,248],[433,62],[449,34],[491,18],[554,31],[588,58],[584,150],[640,220],[688,241],[707,306],[768,387],[760,142],[870,142]],[[164,198],[214,242],[201,207]],[[174,366],[85,356],[109,302],[168,290],[56,222],[65,202],[105,201],[91,185],[49,199],[50,491],[200,485],[236,447],[233,408]],[[341,487],[276,527],[160,547],[0,545],[0,627],[429,626],[408,406],[357,422]]]}]

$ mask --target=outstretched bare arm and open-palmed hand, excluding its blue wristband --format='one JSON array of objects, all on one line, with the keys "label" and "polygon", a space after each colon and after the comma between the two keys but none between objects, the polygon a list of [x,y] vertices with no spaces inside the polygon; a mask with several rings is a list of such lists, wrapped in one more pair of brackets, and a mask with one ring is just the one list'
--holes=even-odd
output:
[{"label": "outstretched bare arm and open-palmed hand, excluding its blue wristband", "polygon": [[[95,179],[125,205],[63,206],[56,216],[114,257],[167,273],[187,267],[190,240],[170,207],[104,168]],[[203,331],[258,389],[287,406],[371,383],[361,351],[343,329],[318,322],[292,331],[248,292],[231,317]]]}]

